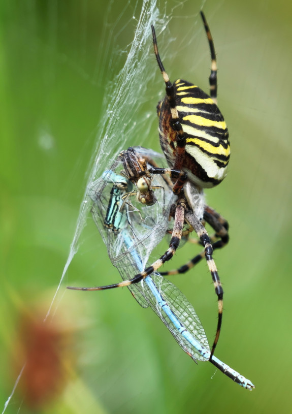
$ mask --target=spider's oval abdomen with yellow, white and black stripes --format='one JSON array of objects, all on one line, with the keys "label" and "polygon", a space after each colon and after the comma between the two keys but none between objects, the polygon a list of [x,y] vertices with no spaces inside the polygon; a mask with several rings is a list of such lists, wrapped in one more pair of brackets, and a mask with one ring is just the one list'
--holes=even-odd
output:
[{"label": "spider's oval abdomen with yellow, white and black stripes", "polygon": [[[228,129],[219,108],[198,86],[178,79],[174,82],[179,121],[186,134],[183,170],[201,187],[213,187],[226,176],[230,157]],[[159,110],[160,144],[172,166],[176,133],[171,126],[166,98]]]}]

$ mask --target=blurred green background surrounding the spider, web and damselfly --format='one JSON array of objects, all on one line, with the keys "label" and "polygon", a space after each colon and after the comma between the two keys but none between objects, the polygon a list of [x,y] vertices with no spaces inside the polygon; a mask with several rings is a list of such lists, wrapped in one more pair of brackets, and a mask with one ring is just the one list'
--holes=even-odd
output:
[{"label": "blurred green background surrounding the spider, web and damselfly", "polygon": [[[182,77],[208,90],[201,6],[169,0],[171,54],[164,41],[159,46],[172,80]],[[141,2],[132,0],[111,9],[104,0],[0,5],[1,407],[19,371],[12,367],[21,317],[38,311],[45,316],[67,261],[90,158],[100,139],[104,95],[125,57],[115,41],[123,49],[131,42],[132,17],[140,8]],[[161,8],[163,14],[165,5]],[[88,232],[88,219],[53,319],[62,321],[71,338],[71,357],[64,357],[66,386],[38,411],[25,407],[16,394],[6,412],[292,412],[292,6],[283,0],[207,0],[203,8],[215,40],[219,107],[232,145],[228,177],[207,191],[208,203],[229,220],[231,236],[215,254],[225,292],[216,355],[256,389],[249,393],[220,372],[214,375],[209,363],[196,366],[156,315],[139,307],[126,289],[64,289],[119,279],[98,232]],[[196,34],[190,38],[192,31]],[[151,133],[141,142],[129,137],[128,146],[159,150],[155,106],[163,82],[155,65],[150,56],[149,76],[155,70],[155,82],[147,85],[151,99],[141,97],[143,110],[135,119],[144,122],[145,113],[151,114]],[[192,256],[193,246],[185,245],[166,268]],[[205,263],[171,280],[187,294],[212,343],[217,305]]]}]

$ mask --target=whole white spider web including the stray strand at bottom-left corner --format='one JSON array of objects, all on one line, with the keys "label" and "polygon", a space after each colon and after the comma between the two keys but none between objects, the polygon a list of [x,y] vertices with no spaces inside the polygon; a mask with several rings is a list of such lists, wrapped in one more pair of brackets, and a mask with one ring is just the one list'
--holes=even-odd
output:
[{"label": "whole white spider web including the stray strand at bottom-left corner", "polygon": [[[184,12],[184,8],[187,10],[190,4],[193,14]],[[58,304],[62,300],[65,289],[65,286],[62,286],[63,278],[78,251],[80,236],[90,209],[87,199],[91,183],[96,177],[101,176],[107,166],[112,164],[117,153],[122,149],[134,145],[148,147],[149,136],[153,131],[154,139],[158,142],[157,126],[154,125],[157,120],[153,108],[155,108],[157,99],[164,95],[164,83],[161,76],[159,76],[159,70],[156,67],[153,55],[151,24],[155,25],[156,35],[159,39],[159,45],[161,45],[161,56],[168,68],[172,59],[175,58],[176,49],[183,52],[189,44],[196,45],[194,38],[198,36],[198,30],[199,34],[203,30],[201,26],[196,26],[196,24],[199,20],[199,11],[204,4],[205,0],[198,0],[196,4],[192,0],[184,0],[177,2],[175,6],[174,3],[168,6],[159,0],[137,0],[135,3],[129,0],[120,11],[116,21],[112,22],[114,1],[112,0],[109,3],[102,38],[99,42],[98,58],[96,58],[94,73],[91,75],[92,84],[105,85],[103,110],[96,129],[98,134],[96,134],[95,149],[88,167],[87,184],[68,260],[64,266],[45,321],[54,316]],[[178,33],[175,27],[178,28],[181,24],[184,25],[183,33],[179,32],[179,39],[171,36],[170,21],[174,23],[172,34]],[[194,28],[195,26],[196,28],[199,27],[198,30]],[[133,39],[128,45],[118,46],[120,34],[129,27],[132,28]],[[52,31],[54,31],[54,27],[52,27]],[[114,54],[110,55],[109,50],[112,50],[112,48]],[[170,50],[173,51],[170,52]],[[194,46],[194,54],[196,54],[196,46]],[[84,73],[82,62],[77,63],[77,60],[69,56],[66,56],[66,59],[68,65],[74,66],[81,77],[90,78],[87,73]],[[192,70],[199,65],[200,60],[197,60],[192,65]],[[155,70],[153,70],[153,67]],[[139,122],[136,119],[139,119]],[[43,138],[45,140],[44,145],[49,145],[49,137],[44,134]],[[61,286],[62,289],[60,289]],[[23,368],[15,382],[11,395],[5,403],[3,413],[12,404],[12,397],[22,371]],[[21,405],[18,412],[21,412]]]}]

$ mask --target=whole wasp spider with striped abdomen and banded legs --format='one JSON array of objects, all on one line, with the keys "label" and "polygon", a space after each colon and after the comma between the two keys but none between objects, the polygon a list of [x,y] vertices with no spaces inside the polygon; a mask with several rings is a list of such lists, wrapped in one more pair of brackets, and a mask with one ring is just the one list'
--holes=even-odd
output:
[{"label": "whole wasp spider with striped abdomen and banded legs", "polygon": [[[173,192],[178,198],[173,211],[174,225],[169,248],[163,256],[132,279],[92,290],[129,286],[156,271],[173,257],[180,243],[184,224],[187,223],[196,231],[199,243],[204,247],[203,252],[180,269],[161,274],[184,273],[205,256],[218,298],[218,322],[211,349],[212,358],[220,334],[223,310],[223,290],[212,254],[215,248],[223,247],[228,242],[229,236],[226,220],[205,205],[204,188],[214,187],[226,176],[230,144],[226,123],[217,107],[217,63],[213,39],[203,12],[201,16],[211,52],[210,95],[182,79],[170,82],[158,53],[155,29],[152,25],[154,53],[166,84],[166,97],[157,106],[160,145],[170,168],[153,167],[139,173],[136,171],[137,175],[132,181],[137,183],[140,176],[149,173],[170,176]],[[144,192],[146,190],[144,189]],[[205,221],[215,230],[214,237],[208,236]],[[220,240],[215,241],[217,238]]]}]

